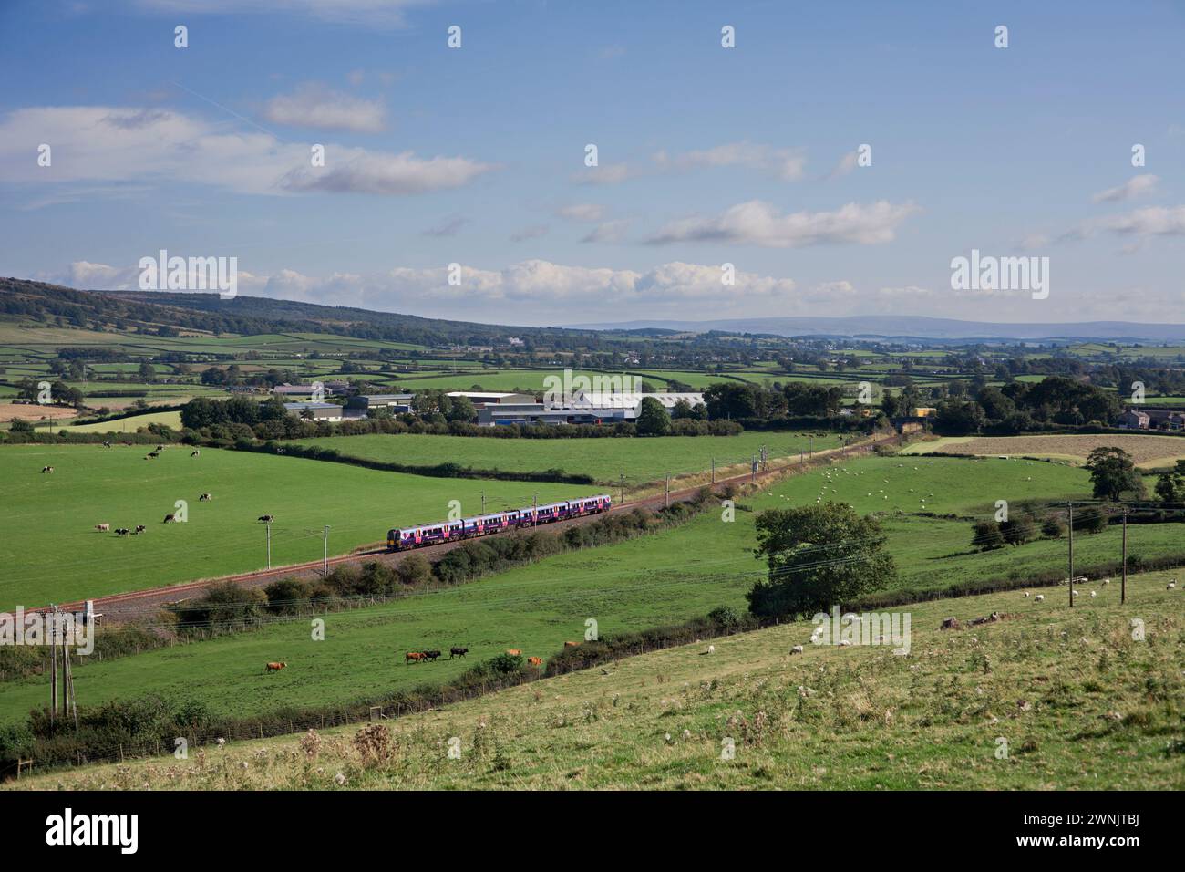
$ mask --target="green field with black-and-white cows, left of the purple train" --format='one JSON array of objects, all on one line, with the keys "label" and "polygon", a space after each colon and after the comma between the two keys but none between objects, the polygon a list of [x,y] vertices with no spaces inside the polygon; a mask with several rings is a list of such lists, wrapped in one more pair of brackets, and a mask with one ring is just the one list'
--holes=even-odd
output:
[{"label": "green field with black-and-white cows, left of the purple train", "polygon": [[[185,446],[0,446],[5,535],[0,540],[0,610],[17,603],[98,597],[121,591],[263,568],[264,529],[273,514],[273,565],[316,560],[322,526],[329,553],[379,542],[387,529],[462,511],[530,505],[595,492],[592,488],[515,482],[474,482],[377,472],[345,464]],[[43,466],[52,475],[41,475]],[[198,497],[210,492],[209,503]],[[175,502],[188,503],[186,523],[165,524]],[[98,533],[97,523],[146,524],[140,536]]]}]

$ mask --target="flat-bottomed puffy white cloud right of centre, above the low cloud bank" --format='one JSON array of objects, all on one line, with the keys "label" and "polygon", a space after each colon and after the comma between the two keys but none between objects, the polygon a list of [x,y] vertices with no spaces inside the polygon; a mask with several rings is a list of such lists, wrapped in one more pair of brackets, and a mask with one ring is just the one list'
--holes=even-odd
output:
[{"label": "flat-bottomed puffy white cloud right of centre, above the low cloud bank", "polygon": [[800,248],[825,243],[876,244],[893,238],[897,227],[920,211],[912,203],[878,201],[848,203],[832,212],[780,214],[763,201],[729,208],[715,218],[683,218],[668,223],[649,242],[735,242],[766,248]]}]

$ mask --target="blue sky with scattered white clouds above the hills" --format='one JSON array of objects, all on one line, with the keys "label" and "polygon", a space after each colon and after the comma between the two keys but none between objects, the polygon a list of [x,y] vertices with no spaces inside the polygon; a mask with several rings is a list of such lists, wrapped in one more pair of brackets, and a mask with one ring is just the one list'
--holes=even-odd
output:
[{"label": "blue sky with scattered white clouds above the hills", "polygon": [[[134,287],[164,248],[515,324],[1180,322],[1183,45],[1154,1],[8,0],[0,274]],[[973,248],[1049,257],[1048,299],[952,289]]]}]

